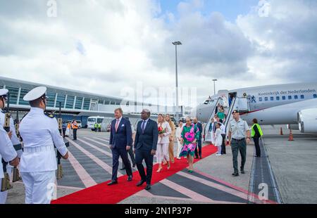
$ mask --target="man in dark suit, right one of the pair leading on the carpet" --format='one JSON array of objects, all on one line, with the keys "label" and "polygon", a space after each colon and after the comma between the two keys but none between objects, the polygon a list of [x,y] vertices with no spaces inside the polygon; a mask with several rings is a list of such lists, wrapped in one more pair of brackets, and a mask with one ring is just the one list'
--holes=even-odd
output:
[{"label": "man in dark suit, right one of the pair leading on the carpet", "polygon": [[[147,182],[145,190],[151,188],[151,177],[153,169],[153,159],[156,153],[157,141],[159,139],[159,130],[157,123],[149,119],[151,113],[149,110],[144,109],[141,113],[141,121],[137,123],[137,134],[135,134],[135,162],[139,170],[141,181],[137,186],[142,186]],[[143,160],[147,165],[147,174],[145,174],[142,165]]]}]

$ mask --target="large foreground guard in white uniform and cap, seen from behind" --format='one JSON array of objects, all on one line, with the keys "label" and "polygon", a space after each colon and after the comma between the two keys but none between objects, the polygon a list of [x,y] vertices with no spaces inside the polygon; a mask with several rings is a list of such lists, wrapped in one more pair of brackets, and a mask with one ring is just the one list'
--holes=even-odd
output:
[{"label": "large foreground guard in white uniform and cap, seen from behind", "polygon": [[31,105],[30,113],[20,122],[20,136],[24,151],[20,160],[20,174],[25,185],[25,203],[49,204],[56,181],[56,153],[54,145],[63,159],[68,150],[58,131],[58,123],[52,115],[44,113],[46,87],[39,86],[23,98]]}]

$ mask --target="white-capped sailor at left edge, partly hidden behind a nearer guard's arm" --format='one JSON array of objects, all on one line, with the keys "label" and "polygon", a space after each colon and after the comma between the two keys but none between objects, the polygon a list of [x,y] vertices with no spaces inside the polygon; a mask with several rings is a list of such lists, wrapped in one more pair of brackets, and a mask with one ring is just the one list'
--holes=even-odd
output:
[{"label": "white-capped sailor at left edge, partly hidden behind a nearer guard's arm", "polygon": [[[6,106],[6,100],[7,100],[7,95],[8,95],[8,89],[0,89],[0,126],[4,127],[4,122],[5,122],[5,111],[4,107]],[[20,140],[18,139],[18,136],[15,133],[15,126],[13,122],[13,118],[11,117],[10,119],[10,132],[9,132],[9,137],[11,139],[11,142],[14,146],[20,144]],[[18,150],[18,158],[21,157],[22,155],[22,150]],[[9,175],[11,175],[13,167],[11,165],[6,166],[6,172],[8,172]],[[0,181],[1,185],[1,181]],[[0,192],[0,202],[6,203],[6,198],[8,196],[8,191]]]}]

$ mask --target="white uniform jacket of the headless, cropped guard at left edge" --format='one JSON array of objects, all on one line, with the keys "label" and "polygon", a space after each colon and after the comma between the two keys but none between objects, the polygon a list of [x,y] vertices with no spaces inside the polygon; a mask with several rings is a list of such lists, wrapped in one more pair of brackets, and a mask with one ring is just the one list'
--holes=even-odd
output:
[{"label": "white uniform jacket of the headless, cropped guard at left edge", "polygon": [[[4,127],[0,126],[0,160],[1,158],[4,158],[6,162],[10,162],[16,158],[16,156],[17,153],[8,137],[8,133],[4,131]],[[4,168],[0,161],[0,179],[1,178],[4,178]]]}]

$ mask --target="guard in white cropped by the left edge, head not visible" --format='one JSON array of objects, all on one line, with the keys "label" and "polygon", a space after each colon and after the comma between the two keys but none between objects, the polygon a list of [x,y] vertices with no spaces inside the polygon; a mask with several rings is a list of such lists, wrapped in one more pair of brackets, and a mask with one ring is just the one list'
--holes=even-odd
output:
[{"label": "guard in white cropped by the left edge, head not visible", "polygon": [[[19,165],[18,154],[13,148],[12,142],[8,137],[8,133],[4,131],[4,127],[0,126],[0,158],[9,162],[10,165],[16,167]],[[0,162],[0,186],[1,180],[4,178],[4,169],[2,162]],[[0,204],[6,203],[6,195],[0,195]]]}]

